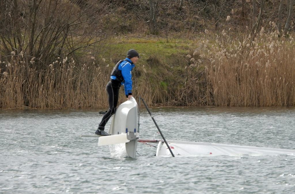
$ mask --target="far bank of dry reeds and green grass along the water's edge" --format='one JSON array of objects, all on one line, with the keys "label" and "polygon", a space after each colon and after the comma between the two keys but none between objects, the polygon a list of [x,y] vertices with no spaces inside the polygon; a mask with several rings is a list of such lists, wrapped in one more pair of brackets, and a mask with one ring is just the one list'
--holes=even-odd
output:
[{"label": "far bank of dry reeds and green grass along the water's edge", "polygon": [[140,53],[133,93],[149,106],[295,104],[293,38],[223,32],[198,41],[120,37],[86,64],[57,59],[46,69],[12,53],[0,63],[0,108],[105,108],[109,74],[130,48]]}]

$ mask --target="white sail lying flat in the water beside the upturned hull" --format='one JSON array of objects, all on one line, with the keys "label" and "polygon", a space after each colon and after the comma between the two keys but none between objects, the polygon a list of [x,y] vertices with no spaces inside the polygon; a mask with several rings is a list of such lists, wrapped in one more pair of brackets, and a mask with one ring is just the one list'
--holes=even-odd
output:
[{"label": "white sail lying flat in the water beside the upturned hull", "polygon": [[[174,155],[180,156],[217,156],[217,155],[295,155],[295,150],[254,147],[241,145],[226,145],[217,143],[188,142],[167,140]],[[166,144],[158,144],[156,156],[171,156]]]}]

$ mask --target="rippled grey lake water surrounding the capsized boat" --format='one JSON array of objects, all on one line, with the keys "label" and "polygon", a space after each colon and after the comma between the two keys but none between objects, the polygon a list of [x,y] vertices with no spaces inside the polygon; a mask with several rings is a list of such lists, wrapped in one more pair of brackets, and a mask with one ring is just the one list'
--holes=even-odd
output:
[{"label": "rippled grey lake water surrounding the capsized boat", "polygon": [[[295,150],[294,107],[151,109],[168,140]],[[160,138],[140,110],[140,137]],[[98,110],[0,110],[0,193],[294,193],[295,156],[112,157]],[[109,120],[106,129],[109,127]],[[108,131],[108,130],[106,130]],[[155,144],[157,146],[157,144]]]}]

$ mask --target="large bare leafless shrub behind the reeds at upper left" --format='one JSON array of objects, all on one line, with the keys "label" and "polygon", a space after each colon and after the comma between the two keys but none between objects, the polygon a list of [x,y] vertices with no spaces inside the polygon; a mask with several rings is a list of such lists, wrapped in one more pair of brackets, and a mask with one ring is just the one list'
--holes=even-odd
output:
[{"label": "large bare leafless shrub behind the reeds at upper left", "polygon": [[1,1],[0,57],[22,52],[46,67],[57,57],[88,54],[89,48],[101,50],[108,37],[100,28],[101,19],[112,14],[116,5],[102,0]]}]

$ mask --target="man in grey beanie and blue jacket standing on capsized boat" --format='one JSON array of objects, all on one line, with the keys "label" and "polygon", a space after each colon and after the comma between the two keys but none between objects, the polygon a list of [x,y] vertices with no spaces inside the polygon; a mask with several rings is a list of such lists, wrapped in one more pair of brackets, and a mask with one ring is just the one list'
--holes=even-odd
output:
[{"label": "man in grey beanie and blue jacket standing on capsized boat", "polygon": [[115,114],[117,104],[119,100],[119,89],[124,84],[124,90],[127,100],[132,97],[132,75],[131,71],[135,67],[139,58],[139,54],[136,50],[130,49],[127,52],[127,58],[120,60],[114,67],[111,73],[111,80],[106,84],[106,92],[109,97],[109,110],[102,117],[99,127],[96,130],[96,135],[110,135],[104,132],[104,126],[108,122],[109,118]]}]

